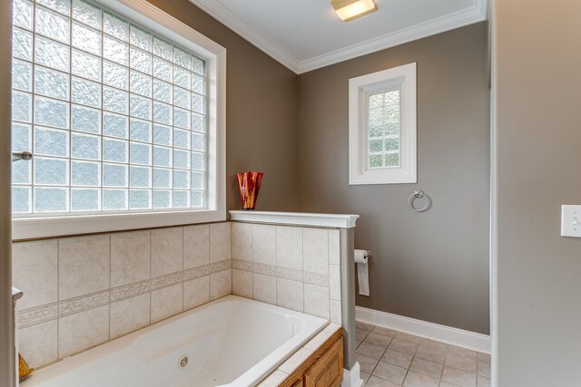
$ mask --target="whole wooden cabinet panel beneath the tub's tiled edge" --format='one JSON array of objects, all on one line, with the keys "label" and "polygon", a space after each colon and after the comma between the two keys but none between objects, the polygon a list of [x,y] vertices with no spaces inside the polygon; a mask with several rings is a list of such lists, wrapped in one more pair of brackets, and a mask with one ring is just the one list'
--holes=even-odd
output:
[{"label": "whole wooden cabinet panel beneath the tub's tiled edge", "polygon": [[280,387],[339,387],[343,381],[343,334],[338,330],[281,382]]}]

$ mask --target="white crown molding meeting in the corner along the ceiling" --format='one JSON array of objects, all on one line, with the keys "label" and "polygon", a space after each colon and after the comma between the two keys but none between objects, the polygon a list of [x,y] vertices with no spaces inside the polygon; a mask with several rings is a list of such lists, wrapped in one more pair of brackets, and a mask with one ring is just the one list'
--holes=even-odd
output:
[{"label": "white crown molding meeting in the corner along the ceiling", "polygon": [[211,15],[220,23],[231,28],[236,34],[241,35],[251,44],[258,47],[264,53],[270,55],[277,62],[289,68],[292,72],[308,73],[312,70],[331,64],[344,62],[369,53],[376,53],[389,47],[405,44],[414,40],[422,39],[431,35],[441,34],[468,24],[475,24],[487,20],[488,0],[475,0],[472,8],[454,14],[442,16],[429,20],[422,24],[397,31],[392,34],[385,34],[366,42],[353,44],[340,50],[325,53],[306,61],[299,61],[297,58],[284,50],[279,44],[275,44],[266,35],[256,28],[244,22],[240,17],[231,12],[230,9],[220,3],[220,1],[190,0],[193,5],[198,6],[202,11]]}]

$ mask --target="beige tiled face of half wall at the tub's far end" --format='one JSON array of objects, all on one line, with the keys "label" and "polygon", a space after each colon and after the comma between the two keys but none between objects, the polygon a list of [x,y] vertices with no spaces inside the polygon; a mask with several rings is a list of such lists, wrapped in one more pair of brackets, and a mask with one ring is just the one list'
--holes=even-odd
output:
[{"label": "beige tiled face of half wall at the tub's far end", "polygon": [[232,293],[340,324],[339,237],[337,229],[232,222]]}]

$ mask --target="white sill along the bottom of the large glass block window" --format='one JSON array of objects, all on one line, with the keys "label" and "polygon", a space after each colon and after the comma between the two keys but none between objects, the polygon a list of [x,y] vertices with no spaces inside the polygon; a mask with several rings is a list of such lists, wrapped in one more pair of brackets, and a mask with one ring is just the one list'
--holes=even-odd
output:
[{"label": "white sill along the bottom of the large glass block window", "polygon": [[212,209],[50,218],[15,218],[12,220],[12,238],[13,240],[42,239],[224,220],[226,220],[225,210]]}]

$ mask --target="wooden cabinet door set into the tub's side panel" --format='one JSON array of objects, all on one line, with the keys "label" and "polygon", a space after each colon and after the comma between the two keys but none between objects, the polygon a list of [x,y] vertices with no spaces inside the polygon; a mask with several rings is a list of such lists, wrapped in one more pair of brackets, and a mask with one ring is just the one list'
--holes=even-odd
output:
[{"label": "wooden cabinet door set into the tub's side panel", "polygon": [[304,387],[337,387],[343,380],[343,338],[333,343],[329,350],[305,373]]}]

